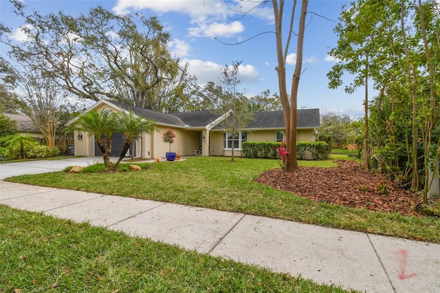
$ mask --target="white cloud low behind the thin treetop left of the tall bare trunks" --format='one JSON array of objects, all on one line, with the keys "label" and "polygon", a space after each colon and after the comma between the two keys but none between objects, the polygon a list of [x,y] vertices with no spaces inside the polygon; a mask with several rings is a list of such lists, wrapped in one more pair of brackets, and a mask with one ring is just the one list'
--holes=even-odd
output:
[{"label": "white cloud low behind the thin treetop left of the tall bare trunks", "polygon": [[[208,81],[219,83],[221,77],[221,67],[218,63],[212,61],[201,61],[197,59],[185,59],[182,63],[188,63],[188,72],[197,77],[199,85],[206,85]],[[259,72],[253,65],[240,65],[238,78],[243,83],[255,83],[259,78]]]}]

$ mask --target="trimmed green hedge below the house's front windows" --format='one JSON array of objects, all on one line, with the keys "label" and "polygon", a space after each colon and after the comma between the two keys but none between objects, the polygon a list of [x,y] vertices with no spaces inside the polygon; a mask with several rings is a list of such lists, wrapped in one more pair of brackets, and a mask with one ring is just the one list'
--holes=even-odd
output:
[{"label": "trimmed green hedge below the house's front windows", "polygon": [[[267,158],[276,159],[275,148],[281,142],[243,142],[242,151],[245,158]],[[331,147],[327,142],[297,142],[296,155],[299,160],[305,160],[307,155],[312,160],[327,160],[331,152]]]}]

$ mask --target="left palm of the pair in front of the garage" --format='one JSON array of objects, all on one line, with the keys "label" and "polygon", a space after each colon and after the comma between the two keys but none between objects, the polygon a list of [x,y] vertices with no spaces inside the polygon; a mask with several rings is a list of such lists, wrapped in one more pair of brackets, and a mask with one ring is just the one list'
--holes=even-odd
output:
[{"label": "left palm of the pair in front of the garage", "polygon": [[[78,118],[74,129],[95,135],[95,142],[102,153],[102,160],[107,169],[112,169],[110,164],[111,135],[118,129],[118,116],[113,111],[104,109],[97,111],[93,109]],[[102,138],[102,135],[104,138]]]}]

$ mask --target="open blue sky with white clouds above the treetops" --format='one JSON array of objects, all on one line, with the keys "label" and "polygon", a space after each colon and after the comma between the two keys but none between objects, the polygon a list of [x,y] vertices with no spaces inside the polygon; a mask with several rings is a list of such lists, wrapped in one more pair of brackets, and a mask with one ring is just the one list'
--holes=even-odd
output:
[{"label": "open blue sky with white clouds above the treetops", "polygon": [[[271,2],[271,1],[270,1]],[[290,11],[292,1],[287,0]],[[170,32],[170,50],[190,64],[190,74],[197,76],[199,84],[208,81],[218,82],[219,70],[234,61],[242,61],[240,68],[241,87],[247,96],[261,94],[270,89],[278,91],[276,76],[275,36],[273,33],[262,34],[241,45],[223,45],[239,43],[262,32],[274,31],[272,6],[263,6],[242,15],[235,12],[237,6],[243,11],[254,6],[255,1],[240,0],[25,0],[28,12],[33,10],[41,14],[63,10],[66,14],[78,16],[87,14],[90,8],[102,6],[117,14],[130,12],[145,16],[157,16],[164,28]],[[270,4],[270,3],[269,3]],[[343,87],[329,89],[327,72],[336,61],[328,56],[329,50],[338,41],[333,28],[338,23],[342,4],[349,6],[349,1],[310,0],[310,12],[307,17],[303,74],[298,91],[298,109],[319,108],[321,113],[334,111],[358,118],[363,114],[364,89],[348,95]],[[298,10],[300,8],[298,7]],[[10,28],[19,29],[23,23],[12,14],[12,5],[7,0],[0,0],[1,22]],[[318,15],[322,16],[319,17]],[[325,17],[325,18],[324,18]],[[19,40],[20,31],[14,31],[14,38]],[[5,54],[6,48],[0,48]],[[296,38],[292,39],[290,56],[287,64],[287,83],[290,86],[296,52]],[[349,77],[347,82],[349,82]],[[289,89],[288,89],[289,91]],[[374,91],[370,96],[374,96]]]}]

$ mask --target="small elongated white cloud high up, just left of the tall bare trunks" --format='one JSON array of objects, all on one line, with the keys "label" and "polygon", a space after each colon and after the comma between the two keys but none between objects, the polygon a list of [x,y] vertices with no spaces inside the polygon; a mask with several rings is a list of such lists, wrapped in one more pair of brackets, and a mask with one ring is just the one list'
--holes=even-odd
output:
[{"label": "small elongated white cloud high up, just left of the tall bare trunks", "polygon": [[188,28],[190,36],[225,36],[230,37],[234,34],[239,34],[245,30],[243,24],[240,21],[234,21],[232,23],[199,23],[197,28]]}]

